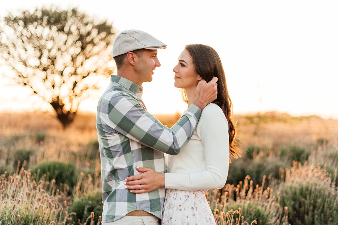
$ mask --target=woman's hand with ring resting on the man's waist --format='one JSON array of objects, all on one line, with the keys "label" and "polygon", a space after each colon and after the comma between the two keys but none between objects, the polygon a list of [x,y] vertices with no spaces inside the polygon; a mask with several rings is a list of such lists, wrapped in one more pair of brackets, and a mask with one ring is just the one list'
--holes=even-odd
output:
[{"label": "woman's hand with ring resting on the man's waist", "polygon": [[136,167],[136,170],[142,173],[127,177],[124,182],[125,189],[141,194],[164,188],[164,173],[158,173],[150,167]]}]

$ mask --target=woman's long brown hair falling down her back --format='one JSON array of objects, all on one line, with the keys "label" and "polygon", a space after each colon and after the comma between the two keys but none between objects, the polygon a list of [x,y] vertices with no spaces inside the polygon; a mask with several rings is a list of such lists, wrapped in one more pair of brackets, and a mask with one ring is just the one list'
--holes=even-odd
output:
[{"label": "woman's long brown hair falling down her back", "polygon": [[[211,81],[213,76],[218,78],[217,81],[217,99],[214,101],[223,111],[229,124],[229,142],[230,156],[233,158],[240,157],[240,149],[236,147],[236,122],[232,117],[233,105],[228,93],[228,88],[225,80],[225,73],[221,59],[217,52],[210,46],[204,44],[188,44],[185,49],[192,57],[196,72],[207,82]],[[188,102],[187,95],[182,89],[182,98]],[[231,159],[230,159],[231,162]]]}]

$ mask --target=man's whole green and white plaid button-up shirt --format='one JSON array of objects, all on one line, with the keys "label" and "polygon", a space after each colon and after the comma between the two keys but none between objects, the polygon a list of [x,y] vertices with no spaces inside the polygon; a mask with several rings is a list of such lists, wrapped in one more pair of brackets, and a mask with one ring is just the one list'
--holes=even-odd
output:
[{"label": "man's whole green and white plaid button-up shirt", "polygon": [[118,220],[134,210],[162,218],[165,189],[133,194],[124,179],[138,174],[138,167],[166,172],[164,154],[177,155],[191,138],[201,110],[191,105],[181,119],[168,128],[152,116],[141,99],[142,87],[116,75],[97,106],[102,176],[102,222]]}]

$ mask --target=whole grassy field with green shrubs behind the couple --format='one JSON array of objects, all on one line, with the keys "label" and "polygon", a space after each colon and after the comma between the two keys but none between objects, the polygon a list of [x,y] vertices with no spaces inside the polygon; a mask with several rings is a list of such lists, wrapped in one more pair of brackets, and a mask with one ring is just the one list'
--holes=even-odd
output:
[{"label": "whole grassy field with green shrubs behind the couple", "polygon": [[[169,127],[179,115],[157,115]],[[240,159],[206,193],[218,224],[338,224],[338,120],[235,116]],[[0,225],[100,224],[95,115],[0,114]],[[217,156],[215,156],[217,157]],[[20,162],[18,162],[20,161]]]}]

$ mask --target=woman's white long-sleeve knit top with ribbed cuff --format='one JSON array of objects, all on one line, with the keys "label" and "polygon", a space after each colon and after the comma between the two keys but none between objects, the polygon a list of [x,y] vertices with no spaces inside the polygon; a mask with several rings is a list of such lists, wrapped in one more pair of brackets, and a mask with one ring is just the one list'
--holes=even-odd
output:
[{"label": "woman's white long-sleeve knit top with ribbed cuff", "polygon": [[207,105],[196,130],[178,155],[168,156],[165,188],[197,191],[222,188],[229,169],[228,122],[215,103]]}]

